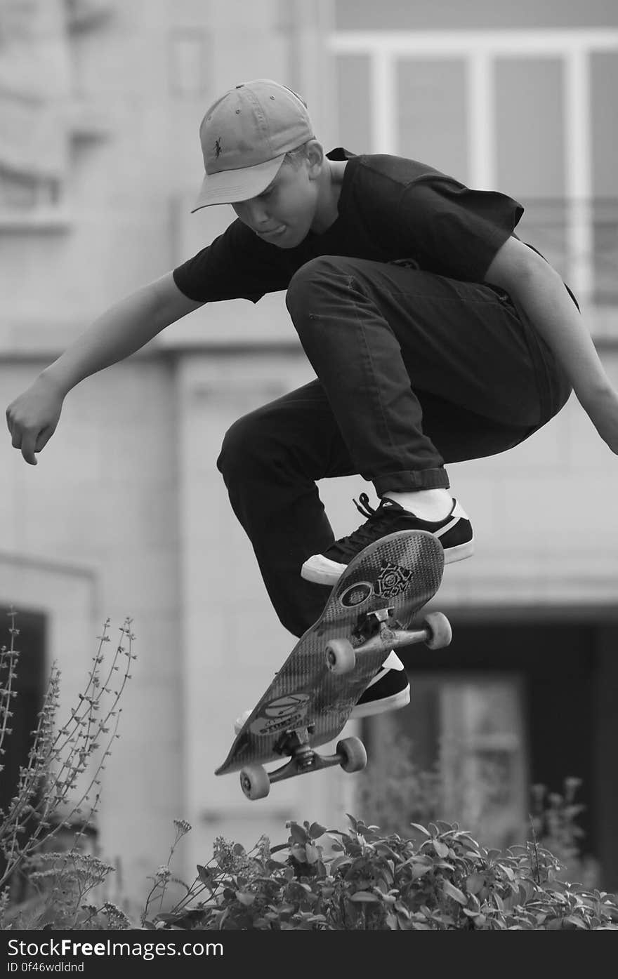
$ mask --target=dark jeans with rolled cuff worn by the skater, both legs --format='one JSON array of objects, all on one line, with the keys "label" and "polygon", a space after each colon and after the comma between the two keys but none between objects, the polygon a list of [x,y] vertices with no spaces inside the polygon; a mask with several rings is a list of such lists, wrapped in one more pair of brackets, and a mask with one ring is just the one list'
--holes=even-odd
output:
[{"label": "dark jeans with rolled cuff worn by the skater, both legs", "polygon": [[334,539],[316,480],[449,487],[445,462],[521,443],[570,388],[489,286],[326,256],[294,275],[287,306],[317,379],[235,422],[217,466],[274,609],[301,635],[330,591],[300,577]]}]

